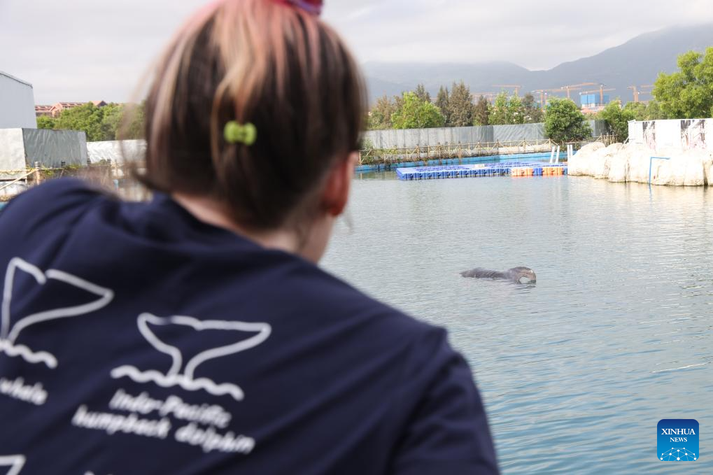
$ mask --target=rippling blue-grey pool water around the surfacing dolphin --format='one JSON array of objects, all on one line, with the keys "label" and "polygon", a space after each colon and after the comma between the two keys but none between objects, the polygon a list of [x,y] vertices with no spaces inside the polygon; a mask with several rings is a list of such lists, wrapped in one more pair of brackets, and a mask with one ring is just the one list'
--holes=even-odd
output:
[{"label": "rippling blue-grey pool water around the surfacing dolphin", "polygon": [[[448,327],[503,472],[713,473],[713,189],[576,177],[354,180],[324,267]],[[535,285],[476,280],[526,265]],[[657,460],[660,419],[701,459]]]}]

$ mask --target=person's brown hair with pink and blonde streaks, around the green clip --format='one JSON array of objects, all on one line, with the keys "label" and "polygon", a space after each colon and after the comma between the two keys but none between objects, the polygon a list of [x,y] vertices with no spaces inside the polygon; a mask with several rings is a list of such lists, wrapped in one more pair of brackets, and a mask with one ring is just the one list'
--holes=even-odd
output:
[{"label": "person's brown hair with pink and blonde streaks, around the green clip", "polygon": [[[364,88],[339,36],[291,3],[321,2],[220,0],[171,41],[146,101],[150,188],[215,200],[252,230],[319,212],[358,148]],[[254,142],[235,136],[249,124]]]}]

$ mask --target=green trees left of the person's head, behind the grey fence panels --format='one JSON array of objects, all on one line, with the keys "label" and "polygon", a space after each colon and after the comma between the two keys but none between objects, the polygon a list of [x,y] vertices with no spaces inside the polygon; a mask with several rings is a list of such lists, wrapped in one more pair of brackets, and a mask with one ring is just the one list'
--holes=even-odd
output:
[{"label": "green trees left of the person's head, behind the grey fence panels", "polygon": [[143,117],[143,104],[111,103],[97,107],[90,102],[66,109],[57,118],[38,117],[37,128],[84,131],[89,142],[143,138]]}]

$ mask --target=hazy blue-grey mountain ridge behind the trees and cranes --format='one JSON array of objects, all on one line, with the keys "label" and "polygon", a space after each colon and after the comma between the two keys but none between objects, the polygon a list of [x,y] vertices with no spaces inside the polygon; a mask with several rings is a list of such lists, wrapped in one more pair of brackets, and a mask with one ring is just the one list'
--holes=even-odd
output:
[{"label": "hazy blue-grey mountain ridge behind the trees and cranes", "polygon": [[[435,97],[438,88],[463,81],[474,93],[494,91],[493,84],[520,84],[521,93],[578,83],[605,84],[608,96],[632,100],[631,85],[652,84],[660,72],[677,69],[677,57],[713,46],[713,25],[674,27],[642,34],[601,53],[562,63],[547,71],[530,71],[508,62],[488,63],[377,63],[364,64],[369,98],[393,96],[422,83]],[[588,86],[596,89],[597,86]],[[555,93],[556,94],[556,93]],[[563,96],[564,93],[558,94]],[[537,95],[535,95],[537,96]],[[577,91],[571,97],[578,101]],[[643,98],[647,98],[644,96]]]}]

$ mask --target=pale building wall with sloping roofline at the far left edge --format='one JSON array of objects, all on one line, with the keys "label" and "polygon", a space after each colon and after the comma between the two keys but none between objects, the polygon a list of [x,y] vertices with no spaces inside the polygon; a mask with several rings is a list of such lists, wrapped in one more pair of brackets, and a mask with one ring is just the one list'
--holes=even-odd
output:
[{"label": "pale building wall with sloping roofline at the far left edge", "polygon": [[36,128],[32,85],[0,71],[0,128]]}]

